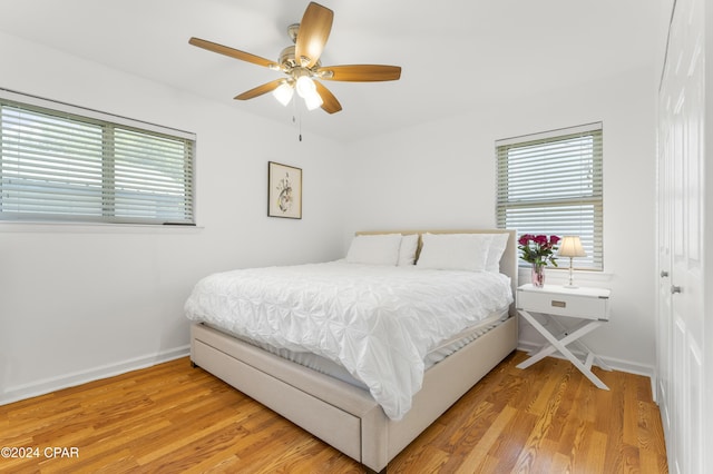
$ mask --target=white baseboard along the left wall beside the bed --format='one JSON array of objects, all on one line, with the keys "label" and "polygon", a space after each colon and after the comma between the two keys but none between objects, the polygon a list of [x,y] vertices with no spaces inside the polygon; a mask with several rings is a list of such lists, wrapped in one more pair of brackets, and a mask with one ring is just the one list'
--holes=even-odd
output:
[{"label": "white baseboard along the left wall beside the bed", "polygon": [[7,405],[9,403],[19,402],[21,399],[45,395],[62,388],[86,384],[87,382],[113,377],[115,375],[125,374],[127,372],[136,371],[139,368],[150,367],[156,364],[185,357],[189,353],[191,346],[185,345],[168,350],[162,350],[153,355],[136,357],[116,364],[94,367],[88,371],[64,374],[57,377],[32,382],[30,384],[8,387],[0,394],[0,405]]}]

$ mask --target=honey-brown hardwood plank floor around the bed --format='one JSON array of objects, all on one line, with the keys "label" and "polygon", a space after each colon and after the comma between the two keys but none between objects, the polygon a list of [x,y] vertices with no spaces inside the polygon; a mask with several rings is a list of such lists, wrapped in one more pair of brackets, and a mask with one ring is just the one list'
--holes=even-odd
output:
[{"label": "honey-brown hardwood plank floor around the bed", "polygon": [[[649,379],[516,352],[389,473],[666,473]],[[0,406],[0,472],[361,473],[363,466],[187,358]],[[48,448],[50,448],[48,451]],[[53,451],[51,448],[66,448]],[[76,454],[76,455],[75,455]]]}]

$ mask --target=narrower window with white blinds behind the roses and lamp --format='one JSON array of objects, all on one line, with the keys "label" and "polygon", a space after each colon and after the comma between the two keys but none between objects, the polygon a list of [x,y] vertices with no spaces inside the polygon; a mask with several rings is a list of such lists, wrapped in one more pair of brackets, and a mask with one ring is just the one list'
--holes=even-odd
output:
[{"label": "narrower window with white blinds behind the roses and lamp", "polygon": [[498,227],[578,235],[574,264],[603,269],[602,124],[496,141]]}]

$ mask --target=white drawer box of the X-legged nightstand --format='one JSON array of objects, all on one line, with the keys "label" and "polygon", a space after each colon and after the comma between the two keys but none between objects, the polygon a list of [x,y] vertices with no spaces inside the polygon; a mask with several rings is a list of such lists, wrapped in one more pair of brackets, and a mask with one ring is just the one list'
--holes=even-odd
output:
[{"label": "white drawer box of the X-legged nightstand", "polygon": [[584,319],[609,318],[609,298],[596,295],[549,293],[546,290],[518,290],[517,307],[535,313],[578,317]]}]

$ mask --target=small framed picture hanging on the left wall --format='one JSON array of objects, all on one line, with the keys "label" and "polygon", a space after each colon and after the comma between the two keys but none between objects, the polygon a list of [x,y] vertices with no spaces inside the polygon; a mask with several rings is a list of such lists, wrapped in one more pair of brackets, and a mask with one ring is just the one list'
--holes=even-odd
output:
[{"label": "small framed picture hanging on the left wall", "polygon": [[302,219],[302,169],[267,161],[267,216]]}]

